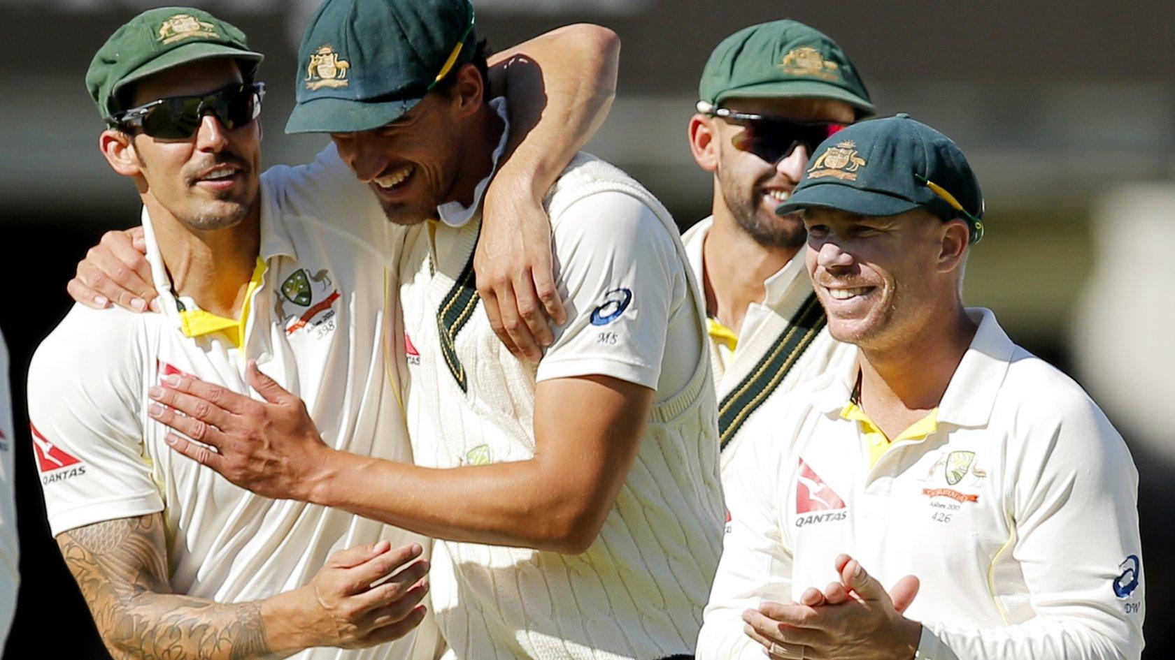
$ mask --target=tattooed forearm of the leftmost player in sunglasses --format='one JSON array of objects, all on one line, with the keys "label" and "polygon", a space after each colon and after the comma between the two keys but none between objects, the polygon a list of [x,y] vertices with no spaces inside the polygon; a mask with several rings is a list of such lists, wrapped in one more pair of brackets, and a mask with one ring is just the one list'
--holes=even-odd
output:
[{"label": "tattooed forearm of the leftmost player in sunglasses", "polygon": [[170,593],[160,514],[70,530],[58,545],[116,660],[277,658],[260,604]]}]

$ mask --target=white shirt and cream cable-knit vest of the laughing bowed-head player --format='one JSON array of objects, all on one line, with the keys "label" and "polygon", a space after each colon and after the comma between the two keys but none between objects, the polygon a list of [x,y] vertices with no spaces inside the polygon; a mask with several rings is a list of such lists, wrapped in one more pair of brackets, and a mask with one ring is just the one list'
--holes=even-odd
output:
[{"label": "white shirt and cream cable-knit vest of the laughing bowed-head player", "polygon": [[692,654],[723,525],[701,305],[672,220],[620,170],[580,154],[548,209],[570,321],[537,368],[502,345],[481,309],[472,272],[479,214],[442,208],[444,222],[410,234],[401,299],[416,463],[532,458],[533,397],[544,379],[638,383],[656,390],[653,410],[616,505],[583,554],[436,543],[432,599],[449,656]]}]

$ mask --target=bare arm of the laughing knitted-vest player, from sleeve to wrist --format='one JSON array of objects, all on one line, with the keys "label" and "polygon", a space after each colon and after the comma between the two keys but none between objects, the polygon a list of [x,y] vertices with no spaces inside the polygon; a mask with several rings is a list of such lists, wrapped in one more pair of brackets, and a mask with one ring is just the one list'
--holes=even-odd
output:
[{"label": "bare arm of the laughing knitted-vest player, from sleeve to wrist", "polygon": [[627,478],[652,398],[603,376],[545,380],[533,458],[432,470],[328,449],[310,500],[435,538],[584,552]]}]

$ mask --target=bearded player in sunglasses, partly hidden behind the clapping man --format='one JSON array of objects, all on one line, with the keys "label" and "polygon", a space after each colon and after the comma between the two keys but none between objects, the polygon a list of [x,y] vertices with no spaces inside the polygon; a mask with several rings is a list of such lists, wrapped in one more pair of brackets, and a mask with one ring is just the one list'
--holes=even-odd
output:
[{"label": "bearded player in sunglasses, partly hidden behind the clapping man", "polygon": [[857,67],[828,36],[781,20],[710,55],[690,147],[713,174],[712,215],[682,237],[706,302],[723,480],[741,429],[798,383],[851,361],[804,269],[804,225],[776,215],[825,137],[873,114]]}]

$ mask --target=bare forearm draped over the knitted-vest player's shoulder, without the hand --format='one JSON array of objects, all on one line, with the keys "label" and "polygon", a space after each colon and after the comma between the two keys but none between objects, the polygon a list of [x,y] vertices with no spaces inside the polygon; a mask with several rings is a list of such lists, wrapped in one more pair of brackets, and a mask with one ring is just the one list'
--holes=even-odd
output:
[{"label": "bare forearm draped over the knitted-vest player's shoulder, without the hand", "polygon": [[511,123],[508,157],[495,177],[499,188],[542,198],[604,123],[619,52],[616,33],[578,23],[494,58],[491,85],[505,90]]}]

